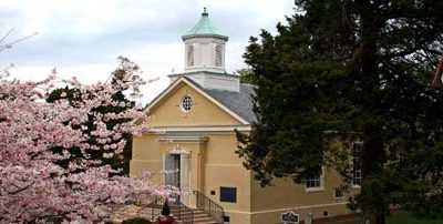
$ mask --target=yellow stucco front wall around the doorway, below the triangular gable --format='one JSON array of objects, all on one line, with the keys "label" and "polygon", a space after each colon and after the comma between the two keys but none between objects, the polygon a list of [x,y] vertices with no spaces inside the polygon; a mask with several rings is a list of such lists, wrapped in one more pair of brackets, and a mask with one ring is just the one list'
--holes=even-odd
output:
[{"label": "yellow stucco front wall around the doorway, below the triangular gable", "polygon": [[[233,132],[207,133],[206,143],[185,142],[158,142],[158,139],[168,136],[171,133],[147,134],[135,138],[133,142],[133,160],[131,161],[131,173],[137,174],[142,171],[157,173],[154,175],[156,184],[163,184],[163,175],[158,172],[163,169],[164,154],[174,149],[183,149],[190,152],[190,160],[204,162],[203,166],[192,166],[192,190],[204,193],[207,197],[222,205],[231,223],[250,223],[250,172],[241,165],[241,160],[235,154],[236,136]],[[172,134],[174,135],[174,134]],[[198,186],[197,176],[200,176]],[[220,186],[236,187],[237,202],[220,202]],[[215,195],[210,195],[210,191]],[[194,198],[192,205],[195,205]]]}]

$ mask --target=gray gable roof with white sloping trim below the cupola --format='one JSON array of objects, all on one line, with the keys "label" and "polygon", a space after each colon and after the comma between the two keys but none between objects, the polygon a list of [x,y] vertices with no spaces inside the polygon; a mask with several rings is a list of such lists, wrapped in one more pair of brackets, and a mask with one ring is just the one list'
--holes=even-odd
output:
[{"label": "gray gable roof with white sloping trim below the cupola", "polygon": [[181,82],[185,82],[203,95],[205,95],[209,101],[214,102],[216,105],[225,110],[227,113],[239,120],[244,124],[251,124],[255,122],[256,115],[253,111],[253,98],[254,85],[251,84],[240,84],[240,92],[227,91],[227,90],[215,90],[215,89],[204,89],[198,83],[193,80],[182,77],[175,80],[166,90],[158,94],[151,103],[146,106],[145,111],[148,111],[155,106],[161,99],[163,99],[167,93],[169,93],[175,86]]}]

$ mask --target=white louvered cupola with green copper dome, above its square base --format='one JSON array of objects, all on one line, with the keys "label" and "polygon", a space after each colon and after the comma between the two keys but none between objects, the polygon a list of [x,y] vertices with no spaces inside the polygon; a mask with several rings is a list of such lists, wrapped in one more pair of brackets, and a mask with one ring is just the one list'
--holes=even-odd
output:
[{"label": "white louvered cupola with green copper dome, above its square base", "polygon": [[182,39],[185,42],[186,72],[226,72],[225,43],[228,37],[219,34],[210,22],[206,8],[198,22]]}]

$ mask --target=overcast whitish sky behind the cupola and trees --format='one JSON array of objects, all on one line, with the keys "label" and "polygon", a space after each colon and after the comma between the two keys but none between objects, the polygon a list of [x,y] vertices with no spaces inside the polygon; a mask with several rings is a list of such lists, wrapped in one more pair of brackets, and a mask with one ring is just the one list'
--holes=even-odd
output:
[{"label": "overcast whitish sky behind the cupola and trees", "polygon": [[14,63],[20,79],[43,79],[53,68],[63,78],[105,81],[123,55],[143,70],[143,102],[168,84],[167,74],[184,71],[181,37],[209,18],[228,35],[226,69],[245,68],[241,54],[250,35],[260,29],[275,32],[277,22],[293,12],[293,0],[0,0],[0,38],[34,35],[0,53],[0,68]]}]

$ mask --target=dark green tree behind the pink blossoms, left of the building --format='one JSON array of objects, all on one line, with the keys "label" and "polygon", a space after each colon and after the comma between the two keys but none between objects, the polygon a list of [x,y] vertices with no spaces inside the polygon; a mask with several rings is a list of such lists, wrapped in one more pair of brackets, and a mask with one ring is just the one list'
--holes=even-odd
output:
[{"label": "dark green tree behind the pink blossoms, left of the building", "polygon": [[[121,61],[120,67],[112,72],[112,80],[111,84],[115,85],[116,82],[127,82],[128,80],[123,80],[126,73],[131,72],[138,72],[138,67],[126,58],[120,57],[119,60]],[[101,113],[101,114],[106,114],[106,113],[122,113],[124,111],[127,111],[130,109],[133,109],[135,106],[135,102],[128,100],[123,91],[126,91],[127,89],[122,89],[119,92],[115,92],[112,95],[112,104],[109,105],[101,105],[94,109],[93,112],[95,113]],[[135,90],[135,92],[138,92],[138,90]],[[94,93],[91,92],[90,96],[93,98]],[[61,88],[61,89],[55,89],[51,93],[48,94],[47,96],[47,102],[53,103],[60,99],[68,99],[68,101],[75,106],[75,104],[82,99],[80,95],[80,92],[75,89],[71,89],[69,86]],[[110,119],[106,121],[106,130],[112,131],[115,125],[126,123],[128,122],[128,118],[119,118],[119,119]],[[120,174],[128,174],[130,173],[130,161],[132,156],[132,138],[130,134],[125,133],[122,134],[122,136],[113,140],[109,140],[106,143],[97,143],[96,139],[91,135],[91,132],[97,131],[96,126],[92,122],[87,122],[83,124],[85,128],[83,128],[83,134],[91,136],[87,141],[89,144],[91,145],[107,145],[107,144],[117,144],[122,139],[126,141],[126,145],[123,149],[122,153],[113,153],[112,156],[105,157],[103,156],[103,152],[100,149],[89,149],[86,150],[86,153],[82,153],[80,149],[78,147],[72,147],[70,149],[70,153],[73,155],[68,160],[59,161],[58,164],[66,167],[69,162],[72,162],[74,160],[81,161],[81,159],[85,159],[85,154],[90,156],[90,159],[101,161],[101,163],[97,164],[92,164],[92,165],[111,165],[112,169],[114,170],[122,170]],[[80,126],[78,126],[80,129]],[[54,147],[52,149],[53,152],[62,152],[61,147]],[[109,149],[107,149],[109,150]],[[112,150],[111,150],[112,151]],[[78,171],[79,172],[79,171]]]}]

